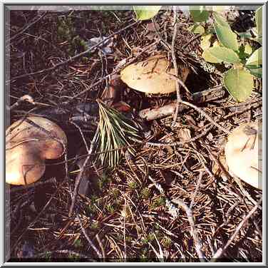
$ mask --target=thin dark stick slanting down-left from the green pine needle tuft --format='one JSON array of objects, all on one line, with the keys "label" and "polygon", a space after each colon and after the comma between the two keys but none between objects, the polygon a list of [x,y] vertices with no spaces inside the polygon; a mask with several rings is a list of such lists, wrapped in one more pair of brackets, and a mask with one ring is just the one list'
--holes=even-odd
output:
[{"label": "thin dark stick slanting down-left from the green pine needle tuft", "polygon": [[88,161],[91,160],[91,153],[93,152],[93,148],[95,147],[96,139],[98,136],[98,129],[99,128],[96,129],[95,135],[94,135],[93,140],[91,142],[91,147],[89,148],[88,156],[86,157],[86,160],[82,165],[82,168],[81,168],[81,171],[79,172],[79,175],[76,177],[76,183],[74,185],[71,207],[70,207],[69,215],[68,215],[69,217],[71,217],[71,215],[73,215],[73,209],[74,209],[74,205],[76,203],[76,197],[78,195],[78,188],[79,188],[80,182],[82,180],[82,177],[84,175],[84,172],[86,170],[86,165],[88,165]]}]

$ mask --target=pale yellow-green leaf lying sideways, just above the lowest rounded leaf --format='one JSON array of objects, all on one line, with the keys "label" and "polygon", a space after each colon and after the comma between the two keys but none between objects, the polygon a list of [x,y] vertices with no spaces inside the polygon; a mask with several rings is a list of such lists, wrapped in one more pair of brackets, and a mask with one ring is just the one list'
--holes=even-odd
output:
[{"label": "pale yellow-green leaf lying sideways, just above the lowest rounded leaf", "polygon": [[232,51],[229,48],[223,48],[220,46],[215,46],[212,48],[207,48],[203,53],[202,57],[205,58],[205,61],[212,63],[239,63],[240,60],[237,56],[237,53]]}]

